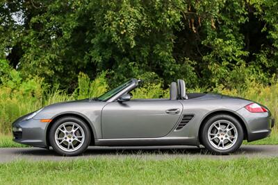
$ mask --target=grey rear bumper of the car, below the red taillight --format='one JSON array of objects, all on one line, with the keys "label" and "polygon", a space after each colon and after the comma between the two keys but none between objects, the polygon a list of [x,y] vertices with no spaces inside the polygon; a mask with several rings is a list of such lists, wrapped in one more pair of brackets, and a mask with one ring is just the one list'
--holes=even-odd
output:
[{"label": "grey rear bumper of the car, below the red taillight", "polygon": [[256,141],[270,135],[275,120],[270,112],[252,113],[242,108],[237,111],[245,121],[247,129],[247,141]]}]

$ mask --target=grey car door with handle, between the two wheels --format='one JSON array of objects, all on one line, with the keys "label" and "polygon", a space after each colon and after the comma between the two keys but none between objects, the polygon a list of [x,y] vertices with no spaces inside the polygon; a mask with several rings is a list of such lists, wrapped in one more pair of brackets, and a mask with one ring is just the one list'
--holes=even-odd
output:
[{"label": "grey car door with handle, between the two wheels", "polygon": [[101,112],[104,139],[156,138],[172,130],[182,112],[179,100],[108,103]]}]

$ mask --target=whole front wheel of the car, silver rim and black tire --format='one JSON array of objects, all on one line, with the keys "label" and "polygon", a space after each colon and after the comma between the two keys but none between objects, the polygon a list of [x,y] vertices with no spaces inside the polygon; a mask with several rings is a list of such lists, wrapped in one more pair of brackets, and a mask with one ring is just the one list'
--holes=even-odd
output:
[{"label": "whole front wheel of the car, silver rim and black tire", "polygon": [[88,148],[90,139],[88,125],[72,116],[58,119],[49,132],[50,144],[60,155],[80,155]]}]

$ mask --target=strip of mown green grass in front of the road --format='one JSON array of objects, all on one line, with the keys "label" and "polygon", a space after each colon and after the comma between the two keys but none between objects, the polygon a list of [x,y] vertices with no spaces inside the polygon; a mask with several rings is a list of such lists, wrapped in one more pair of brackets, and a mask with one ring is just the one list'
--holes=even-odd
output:
[{"label": "strip of mown green grass in front of the road", "polygon": [[0,164],[0,184],[278,184],[272,159],[79,159]]}]

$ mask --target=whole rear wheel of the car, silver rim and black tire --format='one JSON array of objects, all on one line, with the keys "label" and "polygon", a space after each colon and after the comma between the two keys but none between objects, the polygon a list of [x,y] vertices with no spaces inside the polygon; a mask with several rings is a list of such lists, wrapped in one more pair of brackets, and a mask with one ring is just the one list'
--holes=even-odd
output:
[{"label": "whole rear wheel of the car, silver rim and black tire", "polygon": [[208,118],[201,137],[206,149],[215,154],[227,155],[241,146],[244,133],[234,116],[218,114]]}]

